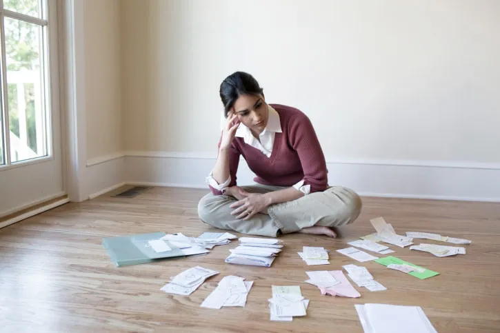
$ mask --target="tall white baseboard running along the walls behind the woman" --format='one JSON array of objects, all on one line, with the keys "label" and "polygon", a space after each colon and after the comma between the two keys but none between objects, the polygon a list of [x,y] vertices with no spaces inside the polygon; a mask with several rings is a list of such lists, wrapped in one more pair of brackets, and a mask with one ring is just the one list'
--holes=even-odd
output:
[{"label": "tall white baseboard running along the walls behind the woman", "polygon": [[[91,165],[89,198],[122,185],[205,188],[215,163],[212,154],[123,152]],[[328,159],[330,185],[342,185],[362,196],[500,202],[500,165],[448,161],[343,161]],[[253,182],[244,160],[239,184]]]}]

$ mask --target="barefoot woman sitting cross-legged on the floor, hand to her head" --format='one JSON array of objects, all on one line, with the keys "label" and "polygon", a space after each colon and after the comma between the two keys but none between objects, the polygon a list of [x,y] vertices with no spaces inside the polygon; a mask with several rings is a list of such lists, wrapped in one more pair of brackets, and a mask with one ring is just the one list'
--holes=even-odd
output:
[{"label": "barefoot woman sitting cross-legged on the floor, hand to her head", "polygon": [[[227,77],[220,97],[226,125],[207,177],[211,192],[198,205],[203,222],[259,236],[336,237],[334,227],[357,219],[361,199],[348,188],[328,186],[325,157],[306,114],[267,104],[259,83],[245,72]],[[237,186],[240,155],[256,184]]]}]

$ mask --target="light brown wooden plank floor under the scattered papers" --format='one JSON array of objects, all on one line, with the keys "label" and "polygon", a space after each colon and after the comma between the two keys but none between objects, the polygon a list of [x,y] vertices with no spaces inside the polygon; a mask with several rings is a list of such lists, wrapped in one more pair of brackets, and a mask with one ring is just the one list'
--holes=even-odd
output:
[{"label": "light brown wooden plank floor under the scattered papers", "polygon": [[[101,245],[104,236],[157,231],[198,236],[214,231],[197,218],[197,201],[205,193],[152,188],[132,199],[106,194],[0,229],[0,331],[363,332],[354,310],[354,304],[361,303],[419,305],[438,332],[500,330],[498,203],[363,198],[361,216],[341,230],[341,239],[282,236],[284,250],[271,268],[224,263],[237,241],[217,246],[206,256],[114,267]],[[441,273],[426,280],[334,252],[373,232],[369,220],[377,216],[399,234],[437,232],[472,244],[466,245],[466,255],[448,258],[391,246],[395,256]],[[306,265],[297,254],[303,245],[332,250],[330,265]],[[388,290],[369,292],[356,286],[361,297],[347,299],[321,296],[317,287],[303,282],[307,270],[341,270],[348,263],[364,265]],[[190,296],[160,290],[170,276],[195,265],[221,274]],[[246,307],[200,307],[217,282],[230,274],[254,281]],[[272,284],[300,285],[310,299],[307,316],[291,323],[270,321]]]}]

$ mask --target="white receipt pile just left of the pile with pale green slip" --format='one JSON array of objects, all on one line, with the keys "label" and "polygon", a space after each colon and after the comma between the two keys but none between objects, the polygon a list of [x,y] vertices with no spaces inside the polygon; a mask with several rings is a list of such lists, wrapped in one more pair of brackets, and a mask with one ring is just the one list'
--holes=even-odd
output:
[{"label": "white receipt pile just left of the pile with pale green slip", "polygon": [[201,307],[220,309],[223,306],[244,307],[253,281],[243,281],[240,276],[224,276],[217,288],[201,303]]}]

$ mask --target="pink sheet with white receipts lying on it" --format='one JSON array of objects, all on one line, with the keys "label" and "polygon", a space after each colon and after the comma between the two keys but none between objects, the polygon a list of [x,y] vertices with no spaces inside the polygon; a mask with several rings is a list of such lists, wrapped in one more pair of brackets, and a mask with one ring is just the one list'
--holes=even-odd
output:
[{"label": "pink sheet with white receipts lying on it", "polygon": [[352,287],[341,270],[306,272],[307,283],[316,285],[322,295],[330,294],[341,297],[359,297],[361,294]]}]

